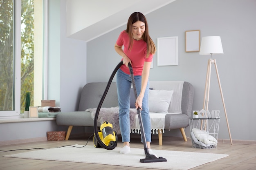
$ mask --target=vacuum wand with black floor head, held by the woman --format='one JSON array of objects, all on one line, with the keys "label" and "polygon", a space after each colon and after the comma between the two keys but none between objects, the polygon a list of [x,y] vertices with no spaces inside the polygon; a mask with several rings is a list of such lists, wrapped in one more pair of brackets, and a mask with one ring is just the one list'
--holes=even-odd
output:
[{"label": "vacuum wand with black floor head, held by the woman", "polygon": [[[129,66],[129,70],[130,70],[130,76],[132,79],[132,86],[134,89],[134,93],[135,93],[135,99],[137,99],[137,91],[136,91],[136,86],[135,86],[135,79],[134,79],[134,75],[133,75],[133,70],[132,70],[132,65],[130,63],[128,63]],[[148,145],[146,142],[146,136],[145,136],[145,131],[144,131],[144,126],[143,126],[143,122],[142,122],[142,118],[141,118],[141,113],[139,108],[137,108],[137,114],[138,114],[138,118],[139,118],[139,126],[140,126],[140,130],[141,130],[141,137],[143,140],[143,144],[144,144],[144,150],[145,150],[145,155],[146,158],[145,159],[140,159],[139,162],[141,163],[149,163],[149,162],[166,162],[167,160],[163,157],[155,157],[155,155],[150,155],[148,152]]]}]

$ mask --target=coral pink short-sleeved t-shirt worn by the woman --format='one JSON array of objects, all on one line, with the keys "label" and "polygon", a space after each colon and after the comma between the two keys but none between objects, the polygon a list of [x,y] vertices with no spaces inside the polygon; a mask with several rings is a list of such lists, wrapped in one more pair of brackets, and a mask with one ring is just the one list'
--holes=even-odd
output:
[{"label": "coral pink short-sleeved t-shirt worn by the woman", "polygon": [[[148,58],[146,58],[147,53],[147,44],[144,40],[133,40],[132,48],[129,47],[129,35],[126,31],[122,31],[117,39],[117,45],[124,45],[124,53],[130,58],[132,61],[132,70],[134,75],[141,75],[144,62],[152,62],[153,55],[150,54]],[[122,59],[123,60],[123,59]],[[126,74],[130,74],[129,68],[125,65],[122,65],[121,70]]]}]

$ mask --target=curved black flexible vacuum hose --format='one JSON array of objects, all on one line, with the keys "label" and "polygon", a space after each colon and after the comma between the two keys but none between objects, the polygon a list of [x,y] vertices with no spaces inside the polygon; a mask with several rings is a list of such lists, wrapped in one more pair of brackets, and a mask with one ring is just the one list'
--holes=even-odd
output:
[{"label": "curved black flexible vacuum hose", "polygon": [[[111,146],[106,146],[100,139],[99,137],[99,134],[98,134],[98,129],[97,129],[97,123],[98,123],[98,116],[99,116],[99,110],[101,109],[101,105],[108,93],[108,89],[110,88],[110,85],[111,85],[111,82],[113,80],[113,78],[115,77],[115,74],[117,73],[118,69],[123,65],[123,61],[119,62],[119,64],[117,64],[116,68],[114,69],[113,73],[111,74],[109,80],[108,80],[108,84],[107,84],[107,87],[101,97],[101,100],[99,102],[99,105],[97,107],[97,110],[96,110],[96,113],[95,113],[95,117],[94,117],[94,134],[95,134],[95,137],[97,138],[97,141],[99,142],[100,146],[102,148],[105,148],[107,150],[112,150],[112,149],[115,149],[115,147],[117,147],[117,143],[112,141],[111,143]],[[117,135],[117,134],[116,134]]]}]

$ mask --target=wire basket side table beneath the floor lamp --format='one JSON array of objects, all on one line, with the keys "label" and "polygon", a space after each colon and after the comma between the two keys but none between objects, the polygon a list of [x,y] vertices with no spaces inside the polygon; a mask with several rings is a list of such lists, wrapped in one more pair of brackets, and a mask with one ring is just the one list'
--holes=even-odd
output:
[{"label": "wire basket side table beneath the floor lamp", "polygon": [[[218,140],[218,132],[219,132],[219,125],[220,125],[220,118],[212,119],[212,118],[189,118],[189,127],[190,132],[193,128],[198,128],[200,130],[205,130],[209,133],[212,137]],[[198,146],[193,138],[192,140],[192,147],[193,148],[202,148],[200,145]],[[209,148],[217,148],[216,147],[209,147]]]}]

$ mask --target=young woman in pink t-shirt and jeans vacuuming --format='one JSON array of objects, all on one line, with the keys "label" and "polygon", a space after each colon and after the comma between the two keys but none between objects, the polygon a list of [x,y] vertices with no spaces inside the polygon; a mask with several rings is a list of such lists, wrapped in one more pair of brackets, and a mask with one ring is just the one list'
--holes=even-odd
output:
[{"label": "young woman in pink t-shirt and jeans vacuuming", "polygon": [[[124,49],[123,49],[124,46]],[[137,90],[135,107],[141,109],[141,117],[144,126],[146,142],[150,154],[151,127],[148,109],[149,71],[156,52],[153,40],[148,34],[146,17],[135,12],[130,15],[127,29],[122,31],[115,44],[115,51],[121,55],[124,64],[117,71],[117,94],[119,102],[119,124],[124,147],[120,153],[130,152],[130,88],[131,77],[128,63],[132,65]]]}]

